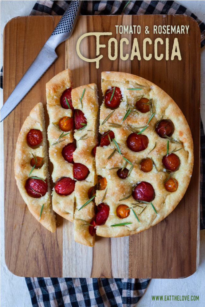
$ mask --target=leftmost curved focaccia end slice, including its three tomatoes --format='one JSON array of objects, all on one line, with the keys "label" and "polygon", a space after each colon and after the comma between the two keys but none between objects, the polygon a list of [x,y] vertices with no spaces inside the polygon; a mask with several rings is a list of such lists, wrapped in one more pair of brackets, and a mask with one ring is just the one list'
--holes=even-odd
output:
[{"label": "leftmost curved focaccia end slice, including its three tomatoes", "polygon": [[[33,137],[33,135],[35,136]],[[30,144],[34,146],[30,146]],[[35,166],[39,168],[36,169]],[[31,110],[21,128],[16,145],[14,171],[19,192],[29,211],[45,228],[51,232],[55,231],[56,219],[51,206],[48,153],[42,103],[38,103]],[[28,179],[28,177],[30,178]],[[38,183],[38,185],[34,183]],[[27,193],[25,185],[30,195],[33,196]]]}]

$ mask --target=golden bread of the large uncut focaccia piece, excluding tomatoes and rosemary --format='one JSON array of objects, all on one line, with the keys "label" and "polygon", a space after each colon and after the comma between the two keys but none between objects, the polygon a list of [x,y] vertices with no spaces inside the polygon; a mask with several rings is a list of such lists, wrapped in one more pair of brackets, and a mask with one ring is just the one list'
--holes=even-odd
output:
[{"label": "golden bread of the large uncut focaccia piece, excluding tomatoes and rosemary", "polygon": [[[114,148],[116,148],[113,141],[111,146],[97,147],[96,169],[97,174],[105,177],[107,180],[107,193],[104,202],[109,205],[110,212],[106,223],[102,226],[97,226],[96,234],[104,237],[120,237],[132,235],[148,229],[156,223],[159,223],[174,210],[186,192],[191,179],[194,159],[193,141],[188,123],[179,107],[167,93],[152,82],[127,73],[102,72],[101,85],[103,95],[107,89],[116,86],[120,88],[123,96],[120,106],[103,125],[102,122],[112,110],[106,108],[104,102],[102,103],[99,127],[101,134],[108,130],[114,132],[115,140],[120,147],[122,155],[116,152],[110,159],[107,159]],[[128,90],[128,88],[141,88],[141,90]],[[145,98],[153,99],[153,113],[155,113],[155,115],[149,122],[149,126],[143,132],[149,139],[148,147],[143,151],[133,152],[126,144],[128,135],[132,133],[129,127],[137,130],[137,127],[145,126],[151,113],[141,113],[138,111],[137,114],[131,111],[123,122],[122,119],[128,107],[130,107],[131,110],[135,109],[135,103],[140,99],[139,96],[141,95],[144,95]],[[179,186],[178,189],[172,193],[166,191],[164,188],[164,181],[168,177],[168,174],[162,164],[162,158],[167,154],[167,139],[160,138],[154,131],[155,125],[160,121],[162,115],[163,119],[171,119],[175,126],[174,133],[171,137],[181,143],[169,141],[169,152],[175,150],[175,148],[177,150],[184,147],[184,149],[176,153],[180,159],[180,167],[174,172],[173,177],[178,181]],[[117,123],[121,126],[119,128],[111,128],[108,122]],[[138,129],[138,131],[139,130],[141,129]],[[155,144],[156,147],[154,148]],[[126,179],[120,179],[116,173],[117,169],[111,169],[113,167],[123,167],[125,160],[122,156],[127,158],[134,165],[129,177]],[[146,157],[153,159],[157,170],[154,166],[149,173],[144,173],[140,170],[140,161]],[[130,166],[131,165],[127,164],[126,167],[129,169]],[[141,181],[152,184],[156,194],[152,203],[158,214],[155,213],[151,204],[138,204],[142,208],[136,206],[133,210],[136,215],[139,216],[140,223],[137,221],[132,210],[130,210],[130,215],[128,217],[120,219],[116,215],[116,208],[118,205],[126,204],[128,207],[133,207],[133,203],[137,204],[132,196],[126,200],[120,201],[120,199],[130,195],[134,186]],[[96,205],[101,202],[103,194],[104,191],[97,191],[95,199]],[[144,209],[145,207],[146,209]],[[143,209],[144,211],[142,212]],[[142,213],[140,214],[140,212]],[[113,224],[124,222],[131,222],[132,224],[110,227]]]}]

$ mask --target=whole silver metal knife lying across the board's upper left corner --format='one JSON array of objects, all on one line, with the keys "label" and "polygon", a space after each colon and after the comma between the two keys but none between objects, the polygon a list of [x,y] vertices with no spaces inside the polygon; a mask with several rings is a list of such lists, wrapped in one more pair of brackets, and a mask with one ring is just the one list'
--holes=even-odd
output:
[{"label": "whole silver metal knife lying across the board's upper left corner", "polygon": [[58,57],[55,49],[73,33],[77,18],[80,14],[82,2],[76,0],[70,2],[68,9],[61,17],[53,33],[1,108],[1,122],[20,103],[53,62],[55,62]]}]

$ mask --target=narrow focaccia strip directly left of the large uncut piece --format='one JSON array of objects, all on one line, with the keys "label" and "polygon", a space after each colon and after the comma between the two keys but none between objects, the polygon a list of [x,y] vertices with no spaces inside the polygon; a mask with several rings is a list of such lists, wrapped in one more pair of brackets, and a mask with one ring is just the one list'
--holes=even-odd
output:
[{"label": "narrow focaccia strip directly left of the large uncut piece", "polygon": [[[78,243],[93,246],[95,236],[89,233],[89,226],[85,226],[85,223],[90,223],[94,218],[94,199],[80,211],[78,209],[93,197],[93,193],[91,193],[92,188],[94,189],[94,186],[97,184],[95,157],[93,153],[93,148],[97,145],[98,134],[97,86],[96,84],[88,84],[77,87],[72,90],[71,94],[75,109],[74,122],[76,129],[74,138],[77,144],[77,148],[73,153],[74,168],[76,165],[79,165],[80,172],[83,172],[83,170],[85,172],[86,170],[89,171],[88,176],[82,177],[84,180],[76,182],[75,186],[76,210],[74,239]],[[83,167],[81,167],[82,164],[84,165]],[[75,178],[78,179],[77,177]],[[91,189],[91,192],[89,192],[89,189]]]}]

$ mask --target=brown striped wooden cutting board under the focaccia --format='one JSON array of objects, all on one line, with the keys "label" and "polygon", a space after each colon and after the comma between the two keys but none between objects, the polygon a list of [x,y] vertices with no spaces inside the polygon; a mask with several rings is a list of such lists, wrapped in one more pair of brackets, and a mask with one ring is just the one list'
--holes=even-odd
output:
[{"label": "brown striped wooden cutting board under the focaccia", "polygon": [[[59,16],[29,16],[12,19],[4,30],[4,101],[13,91],[59,21]],[[115,25],[141,25],[141,34],[117,34]],[[189,25],[188,34],[144,34],[145,26]],[[139,61],[108,59],[110,37],[101,37],[100,68],[77,56],[77,39],[88,32],[112,32],[119,42],[127,37],[130,54],[134,37],[165,40],[170,46],[178,37],[182,60]],[[164,45],[161,46],[164,52]],[[85,38],[83,55],[96,57],[95,40]],[[119,47],[118,47],[119,51]],[[148,52],[153,52],[149,46]],[[58,59],[4,120],[5,170],[5,259],[9,270],[19,276],[179,278],[193,274],[199,247],[199,124],[200,124],[200,31],[191,17],[176,15],[80,16],[72,37],[57,48]],[[14,179],[14,154],[21,126],[32,107],[46,106],[45,84],[58,72],[70,68],[74,87],[97,83],[99,101],[101,71],[121,71],[144,77],[160,86],[183,111],[194,139],[194,169],[190,185],[176,209],[162,222],[142,233],[122,238],[97,238],[95,246],[73,241],[73,224],[57,216],[57,231],[49,233],[30,214]],[[45,108],[46,110],[46,108]],[[48,115],[45,112],[46,125]],[[52,165],[50,165],[52,169]]]}]

